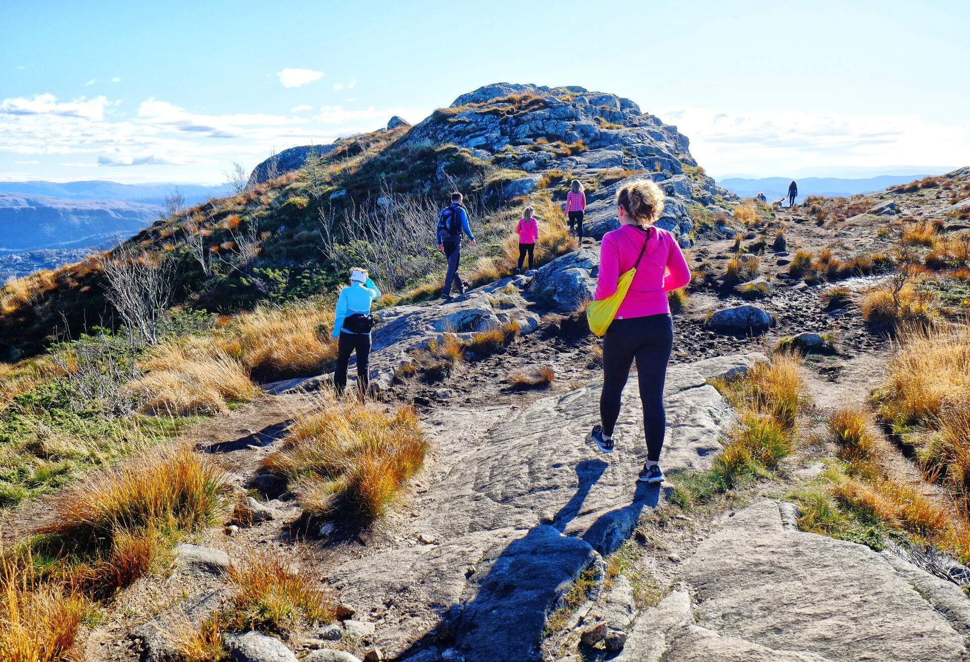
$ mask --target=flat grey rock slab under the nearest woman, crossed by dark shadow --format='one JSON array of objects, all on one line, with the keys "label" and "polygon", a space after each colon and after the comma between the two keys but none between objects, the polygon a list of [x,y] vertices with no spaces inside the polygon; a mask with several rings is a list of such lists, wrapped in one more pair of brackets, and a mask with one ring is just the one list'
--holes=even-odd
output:
[{"label": "flat grey rock slab under the nearest woman, crossed by dark shadow", "polygon": [[[703,364],[718,374],[754,357]],[[668,472],[704,469],[735,416],[691,364],[666,381]],[[660,486],[637,484],[642,416],[632,381],[617,426],[618,452],[586,441],[598,421],[600,385],[541,398],[524,409],[444,408],[426,421],[444,457],[415,495],[408,522],[417,544],[374,552],[337,568],[331,583],[358,613],[380,605],[374,641],[391,655],[438,660],[431,642],[466,662],[531,660],[546,613],[584,568],[630,537]],[[408,647],[409,645],[412,645]],[[456,658],[457,659],[457,658]]]}]

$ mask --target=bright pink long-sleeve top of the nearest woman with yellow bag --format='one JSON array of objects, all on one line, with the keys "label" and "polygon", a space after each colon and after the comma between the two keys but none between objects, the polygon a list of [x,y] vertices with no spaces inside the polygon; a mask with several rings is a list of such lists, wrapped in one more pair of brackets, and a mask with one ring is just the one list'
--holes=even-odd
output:
[{"label": "bright pink long-sleeve top of the nearest woman with yellow bag", "polygon": [[691,282],[691,269],[670,233],[656,227],[644,232],[635,226],[623,225],[603,236],[594,299],[606,299],[616,292],[620,275],[633,268],[648,232],[650,238],[630,291],[616,312],[618,320],[669,313],[666,293]]}]

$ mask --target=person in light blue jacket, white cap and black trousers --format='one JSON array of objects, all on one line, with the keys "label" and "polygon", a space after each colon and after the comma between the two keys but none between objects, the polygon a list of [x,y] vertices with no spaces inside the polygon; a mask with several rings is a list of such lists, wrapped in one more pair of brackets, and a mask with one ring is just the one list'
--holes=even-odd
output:
[{"label": "person in light blue jacket, white cap and black trousers", "polygon": [[334,386],[342,394],[347,386],[347,365],[357,352],[357,389],[366,394],[371,384],[368,360],[371,357],[371,304],[380,297],[367,269],[350,269],[350,285],[340,290],[334,313],[334,337],[337,338],[337,369]]}]

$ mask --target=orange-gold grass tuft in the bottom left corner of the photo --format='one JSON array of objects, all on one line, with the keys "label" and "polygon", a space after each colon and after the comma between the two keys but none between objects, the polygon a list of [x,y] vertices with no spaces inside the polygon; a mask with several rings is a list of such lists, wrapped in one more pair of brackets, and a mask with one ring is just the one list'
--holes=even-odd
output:
[{"label": "orange-gold grass tuft in the bottom left corner of the photo", "polygon": [[0,558],[0,658],[4,662],[76,659],[87,600],[59,583],[41,584],[32,560]]}]

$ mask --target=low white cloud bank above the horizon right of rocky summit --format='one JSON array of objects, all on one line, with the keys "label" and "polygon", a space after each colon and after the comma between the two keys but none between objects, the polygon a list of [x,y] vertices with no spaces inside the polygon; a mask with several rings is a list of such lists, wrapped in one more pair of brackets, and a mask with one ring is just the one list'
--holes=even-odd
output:
[{"label": "low white cloud bank above the horizon right of rocky summit", "polygon": [[658,116],[690,138],[697,163],[713,173],[768,176],[836,166],[960,165],[970,153],[970,125],[930,122],[916,114],[682,108]]}]

